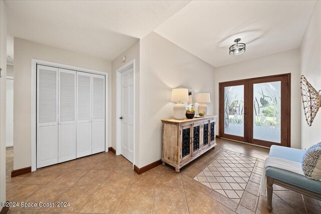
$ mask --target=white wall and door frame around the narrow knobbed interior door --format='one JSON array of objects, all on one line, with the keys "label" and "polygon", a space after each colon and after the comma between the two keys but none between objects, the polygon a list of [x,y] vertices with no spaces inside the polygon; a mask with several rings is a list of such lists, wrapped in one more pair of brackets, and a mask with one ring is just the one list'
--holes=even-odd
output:
[{"label": "white wall and door frame around the narrow knobbed interior door", "polygon": [[[127,64],[128,62],[135,60],[135,159],[134,164],[137,165],[138,163],[138,157],[139,157],[139,40],[133,44],[131,47],[129,47],[127,50],[125,50],[123,53],[121,53],[119,56],[117,56],[112,62],[111,62],[111,71],[112,71],[112,112],[111,112],[111,146],[116,149],[116,70],[120,68],[121,66]],[[121,61],[121,57],[125,56],[126,60],[125,62]]]}]

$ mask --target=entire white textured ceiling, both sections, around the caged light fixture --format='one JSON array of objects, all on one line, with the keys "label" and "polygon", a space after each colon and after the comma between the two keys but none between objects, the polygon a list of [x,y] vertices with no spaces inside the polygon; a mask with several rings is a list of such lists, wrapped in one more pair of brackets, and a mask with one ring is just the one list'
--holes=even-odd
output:
[{"label": "entire white textured ceiling, both sections, around the caged light fixture", "polygon": [[154,30],[214,67],[298,48],[315,2],[6,1],[14,37],[113,60]]}]

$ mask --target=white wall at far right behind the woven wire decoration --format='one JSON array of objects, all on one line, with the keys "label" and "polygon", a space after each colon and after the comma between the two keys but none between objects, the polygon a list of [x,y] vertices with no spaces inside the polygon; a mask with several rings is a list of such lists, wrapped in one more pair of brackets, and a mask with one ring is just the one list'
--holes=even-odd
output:
[{"label": "white wall at far right behind the woven wire decoration", "polygon": [[[301,44],[301,74],[318,91],[321,90],[321,2],[317,2]],[[321,142],[321,109],[312,126],[308,126],[301,103],[301,149]]]}]

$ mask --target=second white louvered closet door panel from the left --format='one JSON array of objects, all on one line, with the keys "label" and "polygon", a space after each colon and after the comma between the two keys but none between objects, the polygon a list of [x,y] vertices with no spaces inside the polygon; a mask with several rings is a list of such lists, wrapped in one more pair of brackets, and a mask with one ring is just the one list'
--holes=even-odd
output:
[{"label": "second white louvered closet door panel from the left", "polygon": [[59,69],[58,162],[76,158],[76,71]]}]

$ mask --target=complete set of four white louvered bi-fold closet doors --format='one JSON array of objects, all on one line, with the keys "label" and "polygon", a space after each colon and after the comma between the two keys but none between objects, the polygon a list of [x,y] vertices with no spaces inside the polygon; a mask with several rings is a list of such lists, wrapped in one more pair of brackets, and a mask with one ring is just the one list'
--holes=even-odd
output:
[{"label": "complete set of four white louvered bi-fold closet doors", "polygon": [[105,151],[105,76],[37,65],[37,168]]}]

